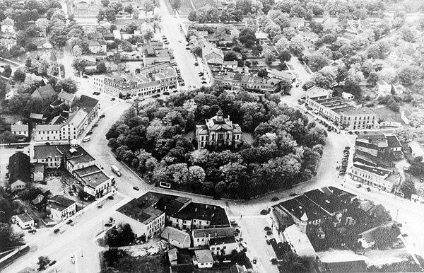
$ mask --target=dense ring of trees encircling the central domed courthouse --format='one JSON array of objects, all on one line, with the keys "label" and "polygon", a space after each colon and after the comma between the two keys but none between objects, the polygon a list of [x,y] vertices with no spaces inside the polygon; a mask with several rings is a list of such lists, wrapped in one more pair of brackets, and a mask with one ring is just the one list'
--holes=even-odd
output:
[{"label": "dense ring of trees encircling the central domed courthouse", "polygon": [[[143,108],[135,103],[106,138],[117,157],[151,183],[248,199],[312,178],[322,156],[326,132],[279,102],[268,93],[233,95],[221,86],[202,87]],[[187,133],[218,110],[252,134],[253,143],[194,149],[196,141]]]}]

